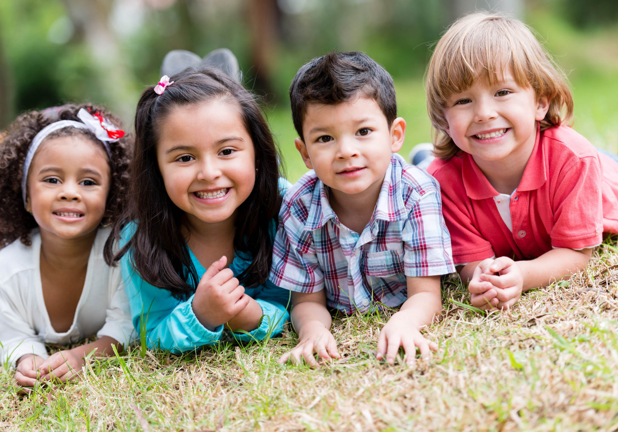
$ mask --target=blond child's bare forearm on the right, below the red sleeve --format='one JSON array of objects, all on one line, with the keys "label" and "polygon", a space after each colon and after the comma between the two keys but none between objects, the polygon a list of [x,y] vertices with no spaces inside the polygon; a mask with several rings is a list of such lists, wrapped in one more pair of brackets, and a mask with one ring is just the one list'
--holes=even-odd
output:
[{"label": "blond child's bare forearm on the right, below the red sleeve", "polygon": [[570,275],[585,269],[591,255],[592,249],[575,251],[558,248],[530,261],[517,261],[523,274],[522,291],[546,287],[556,280],[569,279]]}]

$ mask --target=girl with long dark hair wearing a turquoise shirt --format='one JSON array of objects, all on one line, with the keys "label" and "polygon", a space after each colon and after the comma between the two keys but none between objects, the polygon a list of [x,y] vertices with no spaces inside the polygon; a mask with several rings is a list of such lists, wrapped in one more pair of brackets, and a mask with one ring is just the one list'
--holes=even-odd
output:
[{"label": "girl with long dark hair wearing a turquoise shirt", "polygon": [[132,205],[108,254],[133,326],[173,352],[218,342],[224,326],[239,340],[279,334],[289,294],[267,280],[282,192],[268,124],[219,69],[172,78],[138,102]]}]

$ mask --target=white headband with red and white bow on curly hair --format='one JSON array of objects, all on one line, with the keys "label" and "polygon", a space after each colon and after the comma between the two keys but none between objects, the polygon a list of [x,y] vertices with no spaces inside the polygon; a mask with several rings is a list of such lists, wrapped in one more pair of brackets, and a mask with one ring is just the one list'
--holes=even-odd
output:
[{"label": "white headband with red and white bow on curly hair", "polygon": [[28,181],[28,170],[30,169],[30,164],[32,163],[32,159],[35,156],[36,150],[38,150],[41,142],[43,142],[46,137],[49,136],[52,132],[55,132],[59,129],[64,129],[65,127],[77,127],[77,129],[87,129],[95,134],[96,138],[101,141],[103,147],[105,147],[106,152],[108,152],[108,157],[111,160],[112,153],[109,150],[109,142],[116,142],[124,136],[124,132],[117,130],[116,126],[109,123],[106,119],[101,117],[99,114],[93,116],[88,113],[88,111],[83,108],[79,110],[77,113],[77,117],[83,121],[74,121],[74,120],[60,120],[55,123],[48,124],[43,127],[41,131],[36,134],[34,139],[32,140],[32,144],[30,144],[30,148],[28,149],[28,153],[26,155],[26,160],[23,163],[23,176],[22,176],[22,197],[23,197],[23,205],[26,205],[26,186]]}]

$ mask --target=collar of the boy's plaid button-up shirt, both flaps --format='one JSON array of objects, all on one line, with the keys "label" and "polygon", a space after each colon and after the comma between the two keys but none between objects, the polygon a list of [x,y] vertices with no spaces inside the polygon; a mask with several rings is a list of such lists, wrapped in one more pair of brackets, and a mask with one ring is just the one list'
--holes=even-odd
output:
[{"label": "collar of the boy's plaid button-up shirt, both flaps", "polygon": [[[384,173],[384,181],[380,188],[376,208],[371,217],[371,223],[376,219],[394,222],[402,220],[407,215],[404,199],[400,191],[402,160],[399,155],[391,155],[391,163]],[[326,222],[333,219],[338,222],[337,215],[332,210],[328,199],[328,187],[320,179],[316,180],[311,196],[311,206],[305,223],[305,231],[313,231],[323,227]]]}]

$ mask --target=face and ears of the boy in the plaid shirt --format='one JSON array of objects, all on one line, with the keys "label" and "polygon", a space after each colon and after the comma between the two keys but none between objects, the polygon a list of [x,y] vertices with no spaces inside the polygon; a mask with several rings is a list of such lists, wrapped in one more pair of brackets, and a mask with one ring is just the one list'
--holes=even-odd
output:
[{"label": "face and ears of the boy in the plaid shirt", "polygon": [[391,153],[404,143],[405,121],[397,118],[389,127],[378,103],[368,98],[310,103],[303,136],[295,144],[307,168],[335,191],[362,194],[379,190]]}]

